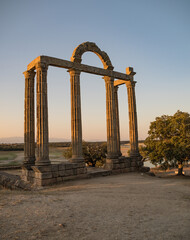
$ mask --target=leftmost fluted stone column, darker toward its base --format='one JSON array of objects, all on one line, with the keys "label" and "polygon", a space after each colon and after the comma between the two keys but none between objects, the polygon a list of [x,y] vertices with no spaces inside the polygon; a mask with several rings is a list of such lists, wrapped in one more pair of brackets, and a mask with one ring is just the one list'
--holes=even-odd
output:
[{"label": "leftmost fluted stone column, darker toward its base", "polygon": [[24,101],[24,166],[35,165],[35,123],[34,123],[34,77],[33,70],[23,73],[25,76]]}]

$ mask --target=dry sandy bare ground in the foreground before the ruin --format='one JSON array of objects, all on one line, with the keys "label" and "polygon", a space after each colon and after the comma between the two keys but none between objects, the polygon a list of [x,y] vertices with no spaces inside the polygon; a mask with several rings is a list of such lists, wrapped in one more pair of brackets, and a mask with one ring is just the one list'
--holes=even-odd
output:
[{"label": "dry sandy bare ground in the foreground before the ruin", "polygon": [[0,239],[189,240],[190,179],[130,173],[0,190]]}]

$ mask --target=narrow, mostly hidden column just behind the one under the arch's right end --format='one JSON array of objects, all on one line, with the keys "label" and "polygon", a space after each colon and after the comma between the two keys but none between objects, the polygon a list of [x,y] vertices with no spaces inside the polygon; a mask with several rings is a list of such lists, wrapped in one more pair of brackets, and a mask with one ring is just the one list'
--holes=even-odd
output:
[{"label": "narrow, mostly hidden column just behind the one under the arch's right end", "polygon": [[117,152],[118,156],[121,156],[120,148],[120,129],[119,129],[119,104],[118,104],[118,86],[114,87],[114,98],[115,98],[115,113],[116,113],[116,137],[117,137]]}]

